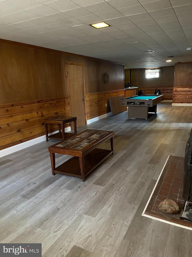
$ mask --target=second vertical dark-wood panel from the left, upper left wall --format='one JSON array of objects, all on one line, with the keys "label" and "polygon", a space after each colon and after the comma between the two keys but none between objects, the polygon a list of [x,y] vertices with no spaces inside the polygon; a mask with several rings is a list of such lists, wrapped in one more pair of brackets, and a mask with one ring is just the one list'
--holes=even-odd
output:
[{"label": "second vertical dark-wood panel from the left, upper left wall", "polygon": [[[25,99],[25,101],[34,100],[35,94],[29,59],[29,48],[22,45],[12,45],[12,47],[15,55],[20,99]],[[25,58],[22,58],[23,55]]]}]

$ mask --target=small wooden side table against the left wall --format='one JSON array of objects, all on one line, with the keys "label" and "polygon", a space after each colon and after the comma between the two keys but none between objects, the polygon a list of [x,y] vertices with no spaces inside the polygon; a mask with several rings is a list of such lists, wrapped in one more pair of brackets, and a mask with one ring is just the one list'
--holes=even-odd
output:
[{"label": "small wooden side table against the left wall", "polygon": [[[48,138],[64,140],[70,136],[75,135],[77,133],[76,120],[77,120],[77,117],[66,117],[66,116],[57,116],[57,117],[43,120],[44,126],[45,126],[46,141],[48,141]],[[74,126],[74,133],[68,133],[68,132],[65,133],[64,132],[65,131],[64,124],[71,123],[72,121],[73,121],[73,126]],[[58,124],[59,132],[55,133],[51,136],[48,136],[48,125],[47,124]]]}]

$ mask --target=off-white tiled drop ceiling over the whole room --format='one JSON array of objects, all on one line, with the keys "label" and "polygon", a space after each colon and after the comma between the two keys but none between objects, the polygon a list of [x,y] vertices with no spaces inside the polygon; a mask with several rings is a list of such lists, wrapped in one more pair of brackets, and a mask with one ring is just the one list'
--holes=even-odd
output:
[{"label": "off-white tiled drop ceiling over the whole room", "polygon": [[[111,27],[89,26],[101,21]],[[125,68],[170,66],[192,61],[192,0],[0,0],[0,38]]]}]

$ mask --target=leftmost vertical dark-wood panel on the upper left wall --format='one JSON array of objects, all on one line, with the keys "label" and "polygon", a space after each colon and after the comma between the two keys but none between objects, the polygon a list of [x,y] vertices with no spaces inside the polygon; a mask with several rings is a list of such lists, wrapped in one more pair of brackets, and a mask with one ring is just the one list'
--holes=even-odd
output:
[{"label": "leftmost vertical dark-wood panel on the upper left wall", "polygon": [[15,66],[14,49],[0,42],[0,79],[4,103],[19,102],[19,86]]}]

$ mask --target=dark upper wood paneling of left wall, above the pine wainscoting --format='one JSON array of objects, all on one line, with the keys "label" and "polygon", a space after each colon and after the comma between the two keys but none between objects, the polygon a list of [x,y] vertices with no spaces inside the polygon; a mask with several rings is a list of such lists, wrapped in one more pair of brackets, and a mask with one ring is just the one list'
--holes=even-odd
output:
[{"label": "dark upper wood paneling of left wall, above the pine wainscoting", "polygon": [[67,96],[66,61],[84,64],[86,93],[124,88],[124,65],[115,62],[3,39],[0,56],[0,104]]}]

